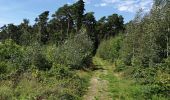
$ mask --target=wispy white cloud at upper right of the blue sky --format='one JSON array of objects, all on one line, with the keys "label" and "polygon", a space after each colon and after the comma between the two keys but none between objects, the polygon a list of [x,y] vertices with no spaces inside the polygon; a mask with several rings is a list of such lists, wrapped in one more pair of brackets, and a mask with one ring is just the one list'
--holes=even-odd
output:
[{"label": "wispy white cloud at upper right of the blue sky", "polygon": [[[102,5],[104,4],[104,5]],[[102,0],[96,7],[113,6],[119,11],[135,13],[140,8],[147,12],[152,7],[153,0]]]}]

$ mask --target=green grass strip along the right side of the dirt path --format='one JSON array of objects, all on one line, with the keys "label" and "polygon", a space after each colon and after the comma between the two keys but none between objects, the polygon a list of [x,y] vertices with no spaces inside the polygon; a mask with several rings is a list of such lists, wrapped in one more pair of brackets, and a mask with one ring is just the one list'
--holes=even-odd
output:
[{"label": "green grass strip along the right side of the dirt path", "polygon": [[100,77],[109,82],[108,91],[113,100],[167,100],[157,95],[146,95],[146,92],[149,89],[148,86],[136,83],[132,79],[126,79],[120,73],[114,72],[114,64],[98,57],[95,57],[93,61],[96,65],[107,70],[107,74],[101,75]]}]

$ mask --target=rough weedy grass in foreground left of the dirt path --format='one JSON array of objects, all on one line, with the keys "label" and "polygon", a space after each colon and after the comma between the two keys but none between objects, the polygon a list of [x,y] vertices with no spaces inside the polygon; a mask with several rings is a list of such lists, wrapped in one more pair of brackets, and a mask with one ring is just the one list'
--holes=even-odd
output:
[{"label": "rough weedy grass in foreground left of the dirt path", "polygon": [[14,88],[11,80],[0,81],[0,100],[81,100],[91,78],[90,71],[75,71],[76,76],[68,79],[48,77],[39,81],[30,73],[25,73]]}]

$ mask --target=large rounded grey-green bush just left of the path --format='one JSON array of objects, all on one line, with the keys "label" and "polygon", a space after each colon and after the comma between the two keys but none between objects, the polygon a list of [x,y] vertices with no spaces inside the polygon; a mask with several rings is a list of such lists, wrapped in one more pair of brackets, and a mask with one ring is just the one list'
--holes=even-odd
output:
[{"label": "large rounded grey-green bush just left of the path", "polygon": [[68,39],[59,46],[54,53],[55,62],[64,64],[71,68],[79,69],[91,63],[93,43],[82,30],[75,37]]}]

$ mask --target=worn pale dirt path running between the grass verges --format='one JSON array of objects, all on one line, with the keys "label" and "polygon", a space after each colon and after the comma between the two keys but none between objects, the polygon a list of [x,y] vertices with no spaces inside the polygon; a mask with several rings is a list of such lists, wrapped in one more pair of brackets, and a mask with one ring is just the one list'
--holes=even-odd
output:
[{"label": "worn pale dirt path running between the grass verges", "polygon": [[[100,62],[95,61],[95,64]],[[101,78],[103,75],[108,74],[108,69],[104,66],[100,66],[99,69],[94,71],[94,74],[90,80],[90,87],[88,87],[87,94],[83,97],[83,100],[112,100],[108,92],[108,81]]]}]

